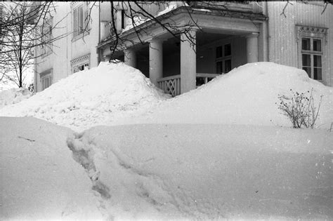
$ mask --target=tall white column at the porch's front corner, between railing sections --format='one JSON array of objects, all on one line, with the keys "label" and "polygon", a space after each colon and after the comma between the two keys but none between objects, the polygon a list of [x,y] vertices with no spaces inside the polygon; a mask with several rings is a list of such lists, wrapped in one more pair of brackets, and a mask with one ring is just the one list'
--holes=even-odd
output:
[{"label": "tall white column at the porch's front corner, between railing sections", "polygon": [[196,88],[197,56],[196,56],[196,30],[181,34],[181,93]]}]

